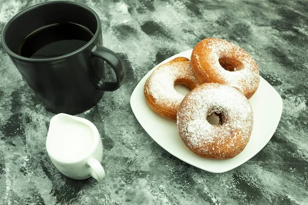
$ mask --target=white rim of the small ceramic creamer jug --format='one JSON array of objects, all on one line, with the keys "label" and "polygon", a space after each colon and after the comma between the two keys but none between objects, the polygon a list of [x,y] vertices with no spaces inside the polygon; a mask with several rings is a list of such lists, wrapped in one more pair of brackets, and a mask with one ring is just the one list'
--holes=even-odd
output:
[{"label": "white rim of the small ceramic creamer jug", "polygon": [[54,115],[50,119],[50,124],[51,124],[51,120],[54,117],[57,117],[59,115],[64,115],[64,116],[67,116],[67,117],[74,117],[74,119],[76,121],[82,122],[82,123],[86,124],[87,126],[89,126],[89,128],[93,132],[93,137],[94,137],[93,144],[92,144],[91,148],[89,148],[88,153],[81,156],[80,158],[74,158],[74,159],[59,158],[58,156],[54,155],[53,151],[51,151],[52,150],[51,146],[52,146],[53,142],[51,142],[52,141],[52,137],[51,137],[52,133],[49,132],[49,130],[50,130],[50,126],[49,126],[47,137],[46,137],[46,151],[47,151],[47,154],[49,155],[49,158],[55,160],[57,163],[60,163],[62,165],[71,165],[71,164],[74,164],[74,163],[86,162],[87,159],[89,159],[93,155],[93,153],[95,153],[98,146],[100,146],[101,136],[100,136],[99,130],[97,129],[97,127],[95,127],[95,125],[90,120],[85,119],[83,117],[69,115],[69,114],[66,114],[66,113],[59,113],[59,114]]}]

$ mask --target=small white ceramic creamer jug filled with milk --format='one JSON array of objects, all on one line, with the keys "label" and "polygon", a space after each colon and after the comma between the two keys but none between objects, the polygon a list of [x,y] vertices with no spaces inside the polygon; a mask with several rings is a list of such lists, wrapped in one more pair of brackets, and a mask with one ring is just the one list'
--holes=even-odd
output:
[{"label": "small white ceramic creamer jug filled with milk", "polygon": [[103,145],[98,129],[87,119],[57,114],[50,120],[46,139],[53,165],[73,179],[105,176],[101,165]]}]

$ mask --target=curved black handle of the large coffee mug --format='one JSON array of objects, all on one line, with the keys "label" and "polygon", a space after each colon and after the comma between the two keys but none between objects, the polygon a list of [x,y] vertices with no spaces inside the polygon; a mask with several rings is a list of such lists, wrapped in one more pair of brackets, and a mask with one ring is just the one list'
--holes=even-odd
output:
[{"label": "curved black handle of the large coffee mug", "polygon": [[96,88],[103,91],[114,91],[120,88],[125,77],[125,69],[121,58],[110,49],[98,44],[90,51],[90,57],[99,57],[105,60],[114,70],[115,76],[117,76],[117,81],[100,79]]}]

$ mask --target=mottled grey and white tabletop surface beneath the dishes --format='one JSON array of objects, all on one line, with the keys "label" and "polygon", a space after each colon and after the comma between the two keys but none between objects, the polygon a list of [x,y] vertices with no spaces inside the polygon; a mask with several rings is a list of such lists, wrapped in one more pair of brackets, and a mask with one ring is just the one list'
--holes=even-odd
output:
[{"label": "mottled grey and white tabletop surface beneath the dishes", "polygon": [[[41,2],[0,0],[0,31],[14,14]],[[53,114],[0,45],[1,204],[308,204],[307,1],[78,2],[98,12],[104,44],[123,58],[127,71],[119,90],[79,115],[100,131],[106,178],[75,181],[53,167],[45,149]],[[284,104],[265,148],[223,174],[167,153],[129,105],[151,68],[205,37],[228,39],[250,53]]]}]

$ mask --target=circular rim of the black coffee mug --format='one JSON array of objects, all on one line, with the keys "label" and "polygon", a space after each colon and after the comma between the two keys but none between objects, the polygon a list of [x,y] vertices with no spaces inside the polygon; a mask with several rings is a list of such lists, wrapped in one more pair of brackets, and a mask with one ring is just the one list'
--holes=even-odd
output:
[{"label": "circular rim of the black coffee mug", "polygon": [[[96,18],[97,20],[97,30],[95,31],[93,37],[89,40],[89,42],[84,45],[83,47],[71,52],[71,53],[68,53],[68,54],[65,54],[65,55],[61,55],[61,56],[57,56],[57,57],[52,57],[52,58],[28,58],[28,57],[24,57],[24,56],[21,56],[21,55],[18,55],[17,53],[11,51],[11,49],[7,46],[6,42],[5,42],[5,33],[7,32],[8,30],[8,27],[9,25],[19,16],[23,15],[24,13],[26,12],[29,12],[33,9],[36,9],[37,7],[40,7],[42,5],[47,5],[47,4],[57,4],[57,3],[62,3],[62,4],[74,4],[76,6],[79,6],[79,7],[82,7],[88,11],[90,11]],[[83,4],[80,4],[80,3],[76,3],[76,2],[68,2],[68,1],[52,1],[52,2],[44,2],[44,3],[41,3],[41,4],[36,4],[36,5],[33,5],[31,7],[28,7],[20,12],[18,12],[16,15],[14,15],[7,23],[6,25],[4,26],[3,30],[2,30],[2,34],[1,34],[1,41],[2,41],[2,45],[3,45],[3,48],[4,50],[11,56],[15,57],[15,58],[18,58],[20,60],[25,60],[25,61],[32,61],[32,62],[46,62],[46,61],[53,61],[53,60],[61,60],[61,59],[64,59],[68,56],[71,56],[71,55],[74,55],[76,53],[79,53],[81,51],[83,51],[86,47],[88,47],[89,45],[91,45],[95,39],[99,36],[100,34],[100,28],[101,27],[101,20],[100,20],[100,17],[99,15],[93,10],[91,9],[90,7],[86,6],[86,5],[83,5]]]}]

